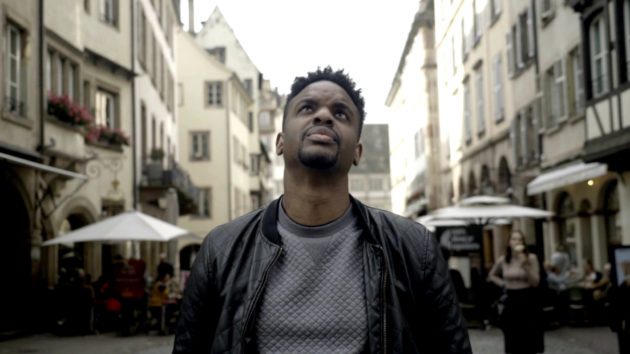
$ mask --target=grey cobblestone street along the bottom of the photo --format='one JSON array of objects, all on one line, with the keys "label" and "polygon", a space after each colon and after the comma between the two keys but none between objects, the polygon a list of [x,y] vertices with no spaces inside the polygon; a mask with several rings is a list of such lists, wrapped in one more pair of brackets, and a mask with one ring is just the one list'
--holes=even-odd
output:
[{"label": "grey cobblestone street along the bottom of the photo", "polygon": [[[474,353],[502,353],[503,336],[498,329],[470,331]],[[0,342],[0,353],[170,353],[173,336],[118,337],[102,334],[60,338],[52,334]],[[545,353],[614,354],[617,337],[607,327],[563,327],[545,333]]]}]

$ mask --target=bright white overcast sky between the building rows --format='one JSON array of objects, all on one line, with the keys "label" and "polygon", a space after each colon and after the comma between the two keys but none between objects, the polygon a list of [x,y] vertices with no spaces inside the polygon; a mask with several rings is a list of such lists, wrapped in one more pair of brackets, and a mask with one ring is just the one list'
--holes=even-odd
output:
[{"label": "bright white overcast sky between the building rows", "polygon": [[[187,28],[188,0],[181,0]],[[218,6],[258,70],[283,94],[317,66],[343,68],[363,89],[367,123],[385,99],[418,0],[195,0],[195,29]]]}]

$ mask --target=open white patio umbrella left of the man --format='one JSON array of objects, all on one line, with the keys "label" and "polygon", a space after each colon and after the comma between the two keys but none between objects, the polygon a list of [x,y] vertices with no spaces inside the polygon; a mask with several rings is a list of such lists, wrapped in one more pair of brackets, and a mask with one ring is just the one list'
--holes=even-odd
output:
[{"label": "open white patio umbrella left of the man", "polygon": [[129,211],[55,237],[42,245],[93,241],[169,241],[189,234],[181,227],[139,211]]}]

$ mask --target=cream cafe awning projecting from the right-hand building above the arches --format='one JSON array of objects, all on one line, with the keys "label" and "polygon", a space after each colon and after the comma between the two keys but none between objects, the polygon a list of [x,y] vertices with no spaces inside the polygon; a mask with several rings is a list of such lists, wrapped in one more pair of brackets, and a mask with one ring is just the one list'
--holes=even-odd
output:
[{"label": "cream cafe awning projecting from the right-hand building above the arches", "polygon": [[561,188],[578,182],[603,176],[608,172],[608,166],[599,162],[578,163],[542,173],[527,184],[527,195]]}]

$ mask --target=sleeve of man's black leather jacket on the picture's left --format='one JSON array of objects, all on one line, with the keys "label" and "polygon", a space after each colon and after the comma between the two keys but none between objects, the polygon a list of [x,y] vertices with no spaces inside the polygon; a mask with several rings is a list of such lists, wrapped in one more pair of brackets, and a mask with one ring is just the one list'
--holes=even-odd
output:
[{"label": "sleeve of man's black leather jacket on the picture's left", "polygon": [[210,352],[218,321],[211,237],[206,236],[186,281],[173,353]]}]

